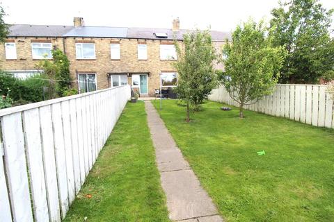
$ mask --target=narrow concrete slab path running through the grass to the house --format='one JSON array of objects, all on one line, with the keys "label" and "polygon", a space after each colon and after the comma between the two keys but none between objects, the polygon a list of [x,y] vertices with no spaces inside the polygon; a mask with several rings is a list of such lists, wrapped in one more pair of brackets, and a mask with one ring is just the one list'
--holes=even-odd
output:
[{"label": "narrow concrete slab path running through the grass to the house", "polygon": [[182,222],[223,221],[150,101],[145,101],[145,110],[170,219]]}]

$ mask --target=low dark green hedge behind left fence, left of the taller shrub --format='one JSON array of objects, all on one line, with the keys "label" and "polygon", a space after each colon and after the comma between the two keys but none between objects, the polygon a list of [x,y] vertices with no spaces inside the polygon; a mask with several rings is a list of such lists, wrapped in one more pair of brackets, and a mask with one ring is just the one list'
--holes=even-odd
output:
[{"label": "low dark green hedge behind left fence, left of the taller shrub", "polygon": [[0,89],[1,94],[10,96],[13,105],[22,105],[26,103],[35,103],[49,99],[43,96],[43,87],[49,87],[49,82],[43,74],[36,74],[32,78],[19,79],[1,71]]}]

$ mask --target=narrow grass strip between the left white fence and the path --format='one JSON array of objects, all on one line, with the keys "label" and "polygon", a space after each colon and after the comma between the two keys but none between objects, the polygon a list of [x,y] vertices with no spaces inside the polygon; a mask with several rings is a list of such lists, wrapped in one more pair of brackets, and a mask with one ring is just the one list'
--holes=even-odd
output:
[{"label": "narrow grass strip between the left white fence and the path", "polygon": [[85,217],[169,221],[143,102],[127,104],[65,221]]}]

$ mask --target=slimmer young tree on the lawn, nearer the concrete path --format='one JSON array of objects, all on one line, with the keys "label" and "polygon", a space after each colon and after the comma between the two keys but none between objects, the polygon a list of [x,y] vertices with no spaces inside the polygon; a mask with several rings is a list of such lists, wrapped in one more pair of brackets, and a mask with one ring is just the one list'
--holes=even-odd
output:
[{"label": "slimmer young tree on the lawn, nearer the concrete path", "polygon": [[175,41],[178,73],[175,92],[186,103],[186,121],[190,121],[190,105],[203,103],[216,86],[214,60],[216,52],[209,31],[193,31],[184,36],[184,48]]}]

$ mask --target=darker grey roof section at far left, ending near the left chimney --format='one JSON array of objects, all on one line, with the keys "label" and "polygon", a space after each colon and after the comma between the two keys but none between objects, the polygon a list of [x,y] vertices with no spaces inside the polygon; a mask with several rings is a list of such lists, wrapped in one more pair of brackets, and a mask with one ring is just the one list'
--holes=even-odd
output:
[{"label": "darker grey roof section at far left, ending near the left chimney", "polygon": [[9,37],[61,37],[74,26],[12,25]]}]

